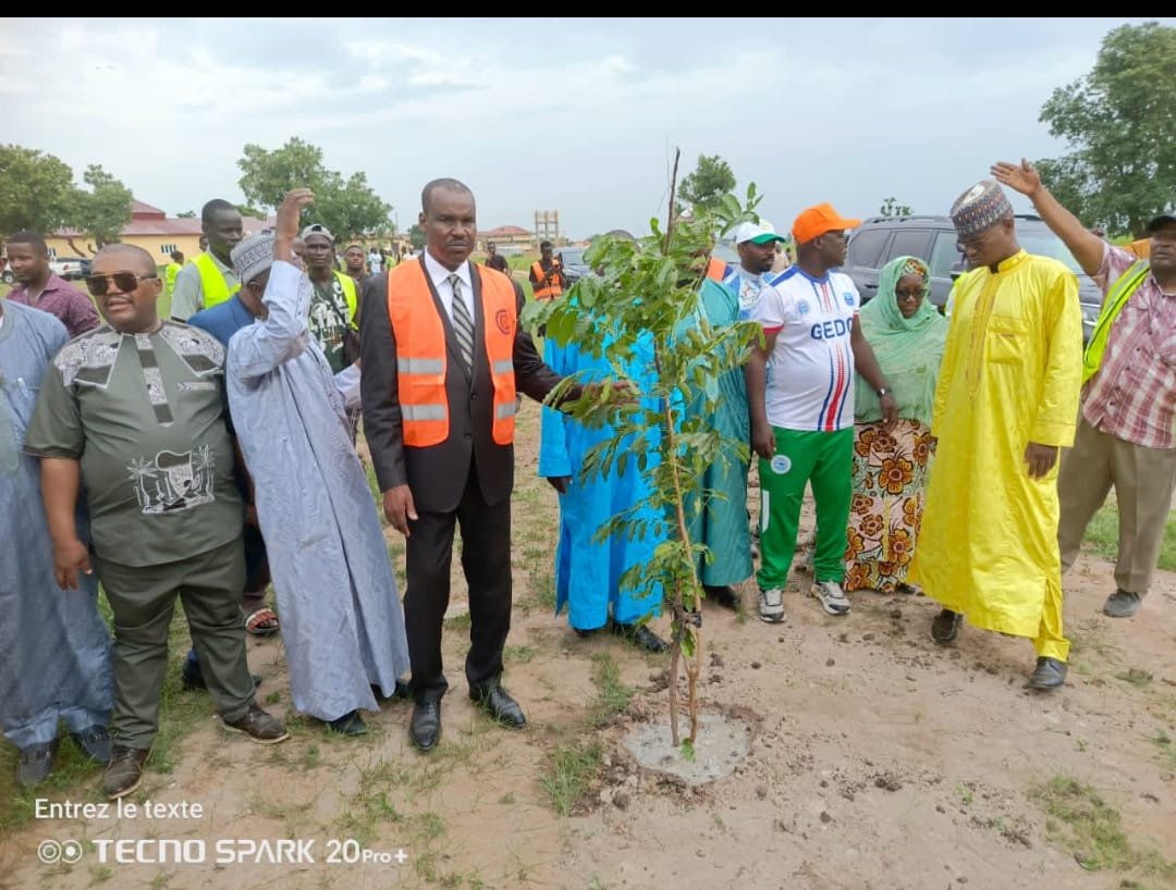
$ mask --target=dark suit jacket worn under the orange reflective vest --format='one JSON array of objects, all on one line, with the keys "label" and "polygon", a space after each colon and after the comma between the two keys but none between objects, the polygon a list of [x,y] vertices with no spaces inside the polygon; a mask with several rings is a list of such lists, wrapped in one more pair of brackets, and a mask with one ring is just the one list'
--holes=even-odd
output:
[{"label": "dark suit jacket worn under the orange reflective vest", "polygon": [[[410,260],[425,266],[423,255]],[[466,489],[470,468],[477,467],[477,482],[488,504],[497,504],[510,496],[514,487],[514,447],[495,444],[492,436],[494,417],[494,388],[490,366],[486,356],[485,323],[482,317],[482,276],[487,273],[469,263],[474,282],[474,372],[468,374],[461,360],[456,335],[449,315],[429,281],[433,303],[445,322],[446,393],[449,402],[449,436],[445,442],[427,448],[405,446],[400,399],[396,381],[396,340],[388,317],[388,276],[374,275],[363,281],[363,308],[360,330],[363,363],[361,396],[363,400],[363,434],[372,450],[376,481],[381,491],[407,484],[413,493],[416,509],[427,513],[452,513],[457,509]],[[517,312],[522,312],[522,288],[515,289]],[[536,401],[560,382],[535,349],[530,335],[515,327],[514,342],[515,388]]]}]

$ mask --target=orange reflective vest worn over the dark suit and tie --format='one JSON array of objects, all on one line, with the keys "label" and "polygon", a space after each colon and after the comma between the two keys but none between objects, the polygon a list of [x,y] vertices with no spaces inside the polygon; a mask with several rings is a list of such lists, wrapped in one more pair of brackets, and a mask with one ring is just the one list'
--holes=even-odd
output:
[{"label": "orange reflective vest worn over the dark suit and tie", "polygon": [[[480,282],[481,313],[487,363],[494,392],[492,435],[497,444],[514,441],[515,386],[514,337],[517,305],[514,285],[500,272],[475,268],[470,275]],[[395,299],[393,299],[395,294]],[[426,279],[425,261],[403,262],[388,273],[388,317],[396,340],[396,394],[400,401],[402,435],[406,446],[427,448],[449,437],[449,401],[446,393],[448,352],[446,326]],[[481,353],[475,349],[475,364]],[[460,373],[460,372],[459,372]]]}]

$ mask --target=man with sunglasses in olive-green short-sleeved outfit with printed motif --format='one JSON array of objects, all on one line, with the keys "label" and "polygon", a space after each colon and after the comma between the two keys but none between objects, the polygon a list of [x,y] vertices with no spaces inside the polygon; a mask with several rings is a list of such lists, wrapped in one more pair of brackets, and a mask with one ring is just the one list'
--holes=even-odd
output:
[{"label": "man with sunglasses in olive-green short-sleeved outfit with printed motif", "polygon": [[[62,589],[98,575],[114,614],[112,798],[139,787],[155,740],[167,637],[180,596],[226,729],[261,743],[286,727],[254,701],[240,597],[242,506],[226,427],[225,348],[163,321],[154,259],[109,245],[86,279],[106,324],[71,341],[46,372],[25,439]],[[92,548],[79,538],[81,480]]]}]

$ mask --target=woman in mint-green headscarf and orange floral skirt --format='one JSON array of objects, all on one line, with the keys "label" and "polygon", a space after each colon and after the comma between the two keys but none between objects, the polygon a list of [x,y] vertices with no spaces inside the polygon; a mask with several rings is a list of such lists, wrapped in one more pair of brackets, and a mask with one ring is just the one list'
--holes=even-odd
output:
[{"label": "woman in mint-green headscarf and orange floral skirt", "polygon": [[846,590],[911,593],[907,568],[923,517],[934,453],[931,408],[948,330],[927,300],[929,276],[920,259],[891,260],[882,268],[877,295],[858,316],[898,402],[898,421],[886,430],[877,395],[858,381]]}]

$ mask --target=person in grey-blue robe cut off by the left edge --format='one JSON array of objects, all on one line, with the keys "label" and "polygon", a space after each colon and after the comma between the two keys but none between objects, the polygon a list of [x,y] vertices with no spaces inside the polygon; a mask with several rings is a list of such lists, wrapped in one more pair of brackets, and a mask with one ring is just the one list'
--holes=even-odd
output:
[{"label": "person in grey-blue robe cut off by the left edge", "polygon": [[[0,728],[20,749],[16,781],[53,769],[58,724],[92,761],[111,759],[111,635],[98,614],[98,577],[54,577],[40,461],[21,453],[36,392],[69,336],[53,315],[0,301]],[[83,517],[78,540],[88,541]]]}]

